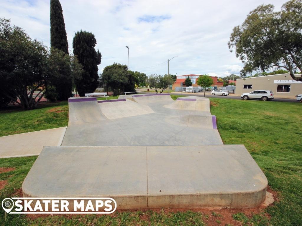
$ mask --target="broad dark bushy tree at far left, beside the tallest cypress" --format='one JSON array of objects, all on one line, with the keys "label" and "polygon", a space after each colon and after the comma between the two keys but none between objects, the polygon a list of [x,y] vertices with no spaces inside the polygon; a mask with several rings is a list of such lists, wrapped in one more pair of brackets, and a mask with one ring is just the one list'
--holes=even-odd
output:
[{"label": "broad dark bushy tree at far left, beside the tallest cypress", "polygon": [[60,78],[59,67],[70,67],[71,74],[81,70],[73,56],[61,50],[50,52],[4,18],[0,19],[0,55],[0,96],[27,109],[35,108],[51,82]]}]

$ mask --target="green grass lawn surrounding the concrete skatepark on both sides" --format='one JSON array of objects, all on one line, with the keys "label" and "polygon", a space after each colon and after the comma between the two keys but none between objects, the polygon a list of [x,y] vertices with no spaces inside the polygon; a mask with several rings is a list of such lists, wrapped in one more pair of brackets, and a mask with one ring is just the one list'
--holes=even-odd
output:
[{"label": "green grass lawn surrounding the concrete skatepark on both sides", "polygon": [[[179,96],[171,95],[173,99]],[[244,144],[277,192],[278,201],[262,212],[244,214],[226,209],[215,211],[125,211],[113,215],[57,215],[29,218],[0,210],[0,225],[223,225],[301,226],[302,225],[302,105],[290,102],[243,101],[210,98],[211,113],[225,144]],[[58,110],[56,108],[62,108]],[[52,111],[51,109],[55,109]],[[67,103],[31,111],[0,111],[1,134],[40,130],[67,125]],[[56,115],[57,114],[57,115]],[[61,114],[61,115],[60,115]],[[54,125],[53,125],[54,123]],[[11,129],[11,127],[13,127]],[[22,181],[36,157],[0,159],[0,173],[7,184],[3,198],[18,196]],[[230,219],[226,222],[226,213]]]}]

